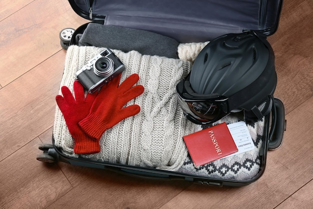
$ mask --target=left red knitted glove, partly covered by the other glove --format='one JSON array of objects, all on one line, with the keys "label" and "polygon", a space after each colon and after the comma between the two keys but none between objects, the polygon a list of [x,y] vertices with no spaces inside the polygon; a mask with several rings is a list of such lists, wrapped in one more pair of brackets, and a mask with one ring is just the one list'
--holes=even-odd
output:
[{"label": "left red knitted glove, partly covered by the other glove", "polygon": [[85,98],[83,87],[78,81],[74,81],[73,87],[75,98],[66,86],[61,87],[63,96],[55,97],[57,106],[63,114],[69,133],[75,140],[74,152],[77,154],[97,153],[100,151],[98,140],[85,134],[78,126],[78,122],[88,115],[97,93],[87,94]]}]

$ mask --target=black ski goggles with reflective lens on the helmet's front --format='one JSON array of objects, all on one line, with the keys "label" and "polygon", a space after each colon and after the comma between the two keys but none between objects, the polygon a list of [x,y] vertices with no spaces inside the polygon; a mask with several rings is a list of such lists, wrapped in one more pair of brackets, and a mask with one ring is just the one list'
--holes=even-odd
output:
[{"label": "black ski goggles with reflective lens on the helmet's front", "polygon": [[188,120],[195,124],[216,122],[230,113],[229,98],[218,94],[195,93],[188,79],[176,85],[179,104]]}]

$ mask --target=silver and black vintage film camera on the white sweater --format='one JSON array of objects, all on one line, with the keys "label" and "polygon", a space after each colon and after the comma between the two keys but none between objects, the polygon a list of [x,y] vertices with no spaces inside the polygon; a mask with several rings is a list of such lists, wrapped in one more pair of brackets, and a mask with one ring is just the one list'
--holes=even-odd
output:
[{"label": "silver and black vintage film camera on the white sweater", "polygon": [[120,74],[124,69],[125,66],[114,53],[106,49],[78,70],[76,78],[91,94]]}]

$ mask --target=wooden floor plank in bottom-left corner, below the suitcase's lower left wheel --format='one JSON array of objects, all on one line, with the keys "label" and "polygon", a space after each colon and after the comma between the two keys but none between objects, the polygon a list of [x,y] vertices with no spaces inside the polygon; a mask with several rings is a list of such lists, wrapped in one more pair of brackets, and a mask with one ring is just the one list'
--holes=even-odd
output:
[{"label": "wooden floor plank in bottom-left corner, below the suitcase's lower left wheel", "polygon": [[0,208],[45,208],[72,189],[56,164],[35,159],[33,139],[0,162]]}]

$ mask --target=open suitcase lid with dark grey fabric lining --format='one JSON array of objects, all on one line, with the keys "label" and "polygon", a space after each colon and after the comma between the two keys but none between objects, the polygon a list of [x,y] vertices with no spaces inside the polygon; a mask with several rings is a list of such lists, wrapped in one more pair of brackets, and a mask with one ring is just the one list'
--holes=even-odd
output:
[{"label": "open suitcase lid with dark grey fabric lining", "polygon": [[146,30],[181,43],[210,41],[228,33],[278,27],[282,0],[68,0],[81,17],[104,25]]}]

